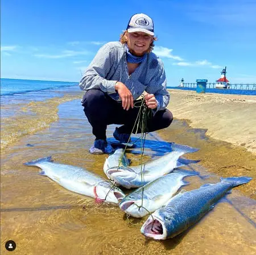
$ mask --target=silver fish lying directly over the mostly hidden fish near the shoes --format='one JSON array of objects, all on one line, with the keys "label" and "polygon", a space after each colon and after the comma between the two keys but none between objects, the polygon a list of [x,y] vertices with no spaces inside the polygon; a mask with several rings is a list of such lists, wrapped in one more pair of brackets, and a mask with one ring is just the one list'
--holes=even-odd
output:
[{"label": "silver fish lying directly over the mostly hidden fish near the shoes", "polygon": [[151,161],[143,166],[134,166],[132,168],[115,167],[106,170],[106,174],[110,176],[116,183],[130,189],[132,187],[142,187],[148,182],[171,173],[172,170],[183,166],[178,160],[185,153],[196,152],[198,149],[185,145],[172,145],[172,152]]}]

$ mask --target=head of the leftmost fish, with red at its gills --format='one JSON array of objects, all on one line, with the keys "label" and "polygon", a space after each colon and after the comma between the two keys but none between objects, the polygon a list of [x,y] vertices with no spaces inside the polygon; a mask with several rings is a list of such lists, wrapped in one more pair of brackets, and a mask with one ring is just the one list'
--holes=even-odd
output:
[{"label": "head of the leftmost fish, with red at its gills", "polygon": [[102,201],[118,204],[125,197],[121,189],[115,187],[110,182],[100,182],[96,186],[97,198]]}]

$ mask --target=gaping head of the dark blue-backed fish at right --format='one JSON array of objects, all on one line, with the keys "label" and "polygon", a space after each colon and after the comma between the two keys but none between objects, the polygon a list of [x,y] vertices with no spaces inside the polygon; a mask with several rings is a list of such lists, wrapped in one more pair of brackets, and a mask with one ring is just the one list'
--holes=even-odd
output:
[{"label": "gaping head of the dark blue-backed fish at right", "polygon": [[141,233],[155,240],[166,240],[176,236],[175,222],[167,210],[156,210],[141,227]]}]

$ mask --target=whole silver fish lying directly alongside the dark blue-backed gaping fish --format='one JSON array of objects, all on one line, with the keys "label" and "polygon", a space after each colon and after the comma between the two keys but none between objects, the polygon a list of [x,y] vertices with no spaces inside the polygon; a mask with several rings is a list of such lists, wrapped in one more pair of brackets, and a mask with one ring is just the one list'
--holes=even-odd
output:
[{"label": "whole silver fish lying directly alongside the dark blue-backed gaping fish", "polygon": [[181,186],[187,185],[188,182],[183,181],[184,177],[196,174],[198,173],[187,170],[175,170],[126,195],[119,207],[126,214],[141,218],[163,206]]}]

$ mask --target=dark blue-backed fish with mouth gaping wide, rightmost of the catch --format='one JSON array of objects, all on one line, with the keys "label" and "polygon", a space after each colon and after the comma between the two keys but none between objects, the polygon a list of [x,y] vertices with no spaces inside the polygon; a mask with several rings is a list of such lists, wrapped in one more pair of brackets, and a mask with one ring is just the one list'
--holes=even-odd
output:
[{"label": "dark blue-backed fish with mouth gaping wide, rightmost of the catch", "polygon": [[156,210],[142,225],[146,237],[164,240],[175,237],[199,221],[214,204],[233,187],[245,184],[250,177],[221,178],[216,184],[205,184],[200,189],[179,193],[166,206]]}]

